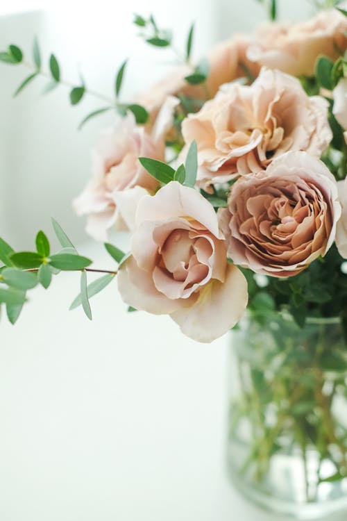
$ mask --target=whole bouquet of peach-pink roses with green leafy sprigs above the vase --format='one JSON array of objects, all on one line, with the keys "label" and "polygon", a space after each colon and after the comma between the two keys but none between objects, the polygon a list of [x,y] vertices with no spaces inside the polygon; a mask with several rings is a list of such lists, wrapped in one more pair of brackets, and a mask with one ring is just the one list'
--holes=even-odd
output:
[{"label": "whole bouquet of peach-pink roses with green leafy sprigs above the vase", "polygon": [[[78,270],[72,308],[82,304],[91,317],[89,298],[117,274],[130,310],[169,314],[201,342],[235,326],[247,306],[285,309],[301,325],[336,315],[347,324],[346,15],[339,4],[308,22],[271,22],[198,64],[192,26],[182,63],[130,104],[119,101],[124,63],[115,103],[83,121],[117,110],[74,201],[119,265],[91,268],[55,221],[56,254],[42,231],[36,251],[13,251],[1,239],[0,303],[10,321],[28,290]],[[135,24],[149,44],[171,46],[153,16]],[[10,45],[0,60],[24,63],[23,52]],[[17,93],[42,74],[41,62],[35,41],[33,70]],[[54,55],[49,75],[51,87],[61,82]],[[71,85],[71,104],[87,93],[85,83]],[[128,254],[108,242],[110,229],[130,230]],[[105,273],[88,286],[89,271]]]}]

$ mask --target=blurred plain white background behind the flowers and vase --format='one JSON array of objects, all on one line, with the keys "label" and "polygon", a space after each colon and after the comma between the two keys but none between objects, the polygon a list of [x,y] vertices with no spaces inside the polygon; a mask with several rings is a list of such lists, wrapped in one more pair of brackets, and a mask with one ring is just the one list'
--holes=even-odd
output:
[{"label": "blurred plain white background behind the flowers and vase", "polygon": [[[309,1],[278,3],[280,19],[314,12]],[[0,47],[17,44],[30,56],[36,35],[65,80],[81,70],[92,90],[110,96],[130,58],[128,101],[174,60],[137,38],[133,13],[153,13],[181,48],[196,20],[196,58],[266,17],[255,0],[12,0],[0,4]],[[41,79],[13,99],[26,74],[0,63],[0,236],[31,249],[38,229],[52,236],[54,216],[81,253],[108,267],[71,199],[90,176],[90,149],[112,114],[78,132],[100,102],[86,97],[71,108],[64,87],[42,96]],[[81,310],[67,311],[78,285],[78,275],[62,274],[48,292],[33,292],[15,327],[1,318],[0,520],[271,519],[246,506],[226,478],[227,339],[200,345],[166,317],[127,314],[114,286],[92,300],[90,323]]]}]

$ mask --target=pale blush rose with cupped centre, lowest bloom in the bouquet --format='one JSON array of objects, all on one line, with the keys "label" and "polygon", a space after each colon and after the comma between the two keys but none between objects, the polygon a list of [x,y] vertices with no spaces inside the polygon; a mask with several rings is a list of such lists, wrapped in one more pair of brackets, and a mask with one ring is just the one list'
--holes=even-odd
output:
[{"label": "pale blush rose with cupped centre, lowest bloom in the bouquet", "polygon": [[226,244],[210,203],[171,181],[139,201],[132,256],[121,266],[124,301],[169,314],[185,335],[211,342],[244,313],[247,283],[227,262]]}]

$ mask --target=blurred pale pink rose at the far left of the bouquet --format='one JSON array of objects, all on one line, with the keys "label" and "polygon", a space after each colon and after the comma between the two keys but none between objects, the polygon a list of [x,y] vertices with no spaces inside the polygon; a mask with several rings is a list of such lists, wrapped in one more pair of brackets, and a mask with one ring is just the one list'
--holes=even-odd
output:
[{"label": "blurred pale pink rose at the far left of the bouquet", "polygon": [[139,199],[158,188],[158,181],[139,163],[140,156],[164,160],[163,135],[171,124],[178,100],[169,97],[158,114],[151,135],[128,114],[106,129],[92,152],[92,180],[73,201],[78,215],[88,215],[86,231],[107,240],[108,230],[132,229]]}]

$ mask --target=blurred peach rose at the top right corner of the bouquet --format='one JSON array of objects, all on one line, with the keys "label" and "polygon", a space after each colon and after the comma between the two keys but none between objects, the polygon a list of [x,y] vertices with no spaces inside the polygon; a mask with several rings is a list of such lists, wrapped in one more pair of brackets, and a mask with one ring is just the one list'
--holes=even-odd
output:
[{"label": "blurred peach rose at the top right corner of the bouquet", "polygon": [[344,53],[346,31],[347,18],[336,9],[322,11],[307,22],[265,24],[255,33],[247,56],[293,76],[313,76],[320,54],[335,60]]}]

